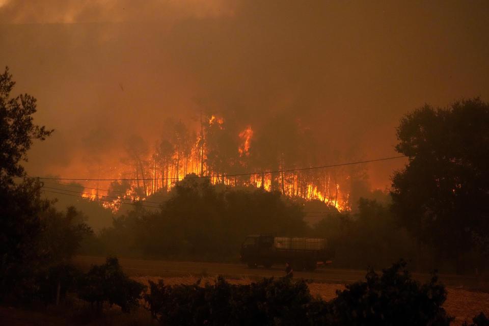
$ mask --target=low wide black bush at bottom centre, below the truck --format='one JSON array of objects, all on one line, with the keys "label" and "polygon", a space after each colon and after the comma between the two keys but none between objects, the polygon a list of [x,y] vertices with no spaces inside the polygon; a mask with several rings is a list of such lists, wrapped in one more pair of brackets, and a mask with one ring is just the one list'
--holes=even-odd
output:
[{"label": "low wide black bush at bottom centre, below the truck", "polygon": [[214,285],[166,286],[150,282],[144,298],[151,314],[169,325],[295,325],[306,319],[313,300],[304,281],[264,279],[231,285],[219,277]]}]

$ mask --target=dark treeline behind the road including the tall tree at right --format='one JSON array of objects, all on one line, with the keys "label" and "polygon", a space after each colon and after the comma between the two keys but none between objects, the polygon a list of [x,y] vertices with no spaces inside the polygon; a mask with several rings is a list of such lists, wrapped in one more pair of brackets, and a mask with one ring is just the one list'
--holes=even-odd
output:
[{"label": "dark treeline behind the road including the tall tree at right", "polygon": [[424,106],[397,129],[396,150],[409,163],[394,173],[392,204],[361,199],[355,213],[340,213],[324,203],[331,213],[311,227],[304,222],[311,202],[190,175],[176,183],[161,209],[140,207],[120,216],[87,240],[85,250],[230,260],[246,235],[273,232],[327,237],[337,266],[387,266],[404,257],[417,270],[480,273],[489,243],[488,133],[489,105],[478,98],[447,108]]}]

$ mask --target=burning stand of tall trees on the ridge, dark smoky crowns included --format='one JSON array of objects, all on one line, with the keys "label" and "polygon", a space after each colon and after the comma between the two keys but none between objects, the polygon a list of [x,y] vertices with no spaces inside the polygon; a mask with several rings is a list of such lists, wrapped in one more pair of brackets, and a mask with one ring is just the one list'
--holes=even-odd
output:
[{"label": "burning stand of tall trees on the ridge, dark smoky crowns included", "polygon": [[124,146],[123,162],[128,169],[120,169],[118,177],[133,180],[122,190],[122,184],[111,184],[110,196],[118,199],[104,205],[117,209],[125,198],[142,200],[159,191],[170,191],[192,174],[208,177],[213,184],[262,187],[348,209],[350,177],[362,176],[362,170],[300,169],[338,158],[327,154],[324,141],[293,119],[281,117],[266,124],[270,126],[255,130],[252,124],[240,125],[233,119],[209,115],[202,117],[199,133],[182,121],[165,121],[162,137],[153,148],[143,138],[132,136]]}]

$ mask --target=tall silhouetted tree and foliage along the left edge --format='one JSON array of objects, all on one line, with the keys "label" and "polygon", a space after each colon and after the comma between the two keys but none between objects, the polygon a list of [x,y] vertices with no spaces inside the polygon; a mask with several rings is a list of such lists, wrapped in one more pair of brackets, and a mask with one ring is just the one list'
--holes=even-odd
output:
[{"label": "tall silhouetted tree and foliage along the left edge", "polygon": [[[0,75],[0,300],[27,304],[52,299],[52,288],[46,289],[53,275],[65,284],[59,264],[74,254],[90,228],[74,208],[53,209],[40,199],[41,183],[25,178],[21,160],[34,139],[44,140],[52,130],[33,123],[34,97],[10,98],[14,84],[6,69]],[[15,177],[23,179],[15,182]]]}]

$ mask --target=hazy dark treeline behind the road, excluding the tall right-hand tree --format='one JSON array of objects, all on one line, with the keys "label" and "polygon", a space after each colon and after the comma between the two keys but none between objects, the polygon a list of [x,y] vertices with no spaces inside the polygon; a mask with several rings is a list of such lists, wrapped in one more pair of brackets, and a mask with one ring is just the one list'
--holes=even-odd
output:
[{"label": "hazy dark treeline behind the road, excluding the tall right-hand tree", "polygon": [[[418,253],[416,238],[398,223],[389,204],[377,200],[361,199],[355,213],[330,207],[330,213],[311,226],[305,221],[305,210],[311,203],[292,201],[280,192],[184,179],[169,195],[161,209],[148,209],[142,202],[114,218],[111,227],[85,238],[82,253],[237,261],[247,235],[271,232],[327,238],[336,251],[336,267],[380,268],[404,257],[417,270],[455,271],[455,257],[439,256],[436,247],[425,245]],[[475,257],[480,257],[475,251],[461,256],[466,266],[463,272],[483,270],[485,264]]]}]

